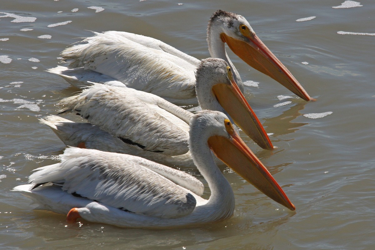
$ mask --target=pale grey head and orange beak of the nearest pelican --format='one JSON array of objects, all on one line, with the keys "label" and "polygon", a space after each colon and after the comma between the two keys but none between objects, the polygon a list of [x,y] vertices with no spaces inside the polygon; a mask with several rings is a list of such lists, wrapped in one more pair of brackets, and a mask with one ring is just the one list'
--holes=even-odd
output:
[{"label": "pale grey head and orange beak of the nearest pelican", "polygon": [[[194,133],[198,133],[198,135],[194,135]],[[220,160],[246,181],[288,209],[296,209],[263,163],[236,133],[231,121],[225,114],[218,111],[204,110],[198,112],[190,120],[192,156],[197,166],[199,166],[199,171],[201,171],[202,175],[205,175],[207,182],[209,182],[209,175],[205,173],[205,169],[202,169],[202,166],[205,166],[204,161],[207,160],[207,157],[204,159],[197,157],[201,154],[202,148],[204,148],[204,146],[199,147],[202,143],[202,138],[208,138],[204,142],[205,145],[208,144],[208,147]]]}]

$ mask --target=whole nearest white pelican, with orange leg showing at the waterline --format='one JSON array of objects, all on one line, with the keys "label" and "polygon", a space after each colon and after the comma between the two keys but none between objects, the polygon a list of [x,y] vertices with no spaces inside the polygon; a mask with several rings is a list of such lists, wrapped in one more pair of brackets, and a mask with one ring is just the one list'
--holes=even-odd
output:
[{"label": "whole nearest white pelican, with orange leg showing at the waterline", "polygon": [[[193,115],[189,144],[211,190],[208,200],[196,195],[202,190],[199,181],[180,184],[187,174],[136,156],[81,148],[66,149],[61,163],[36,169],[29,177],[31,184],[14,190],[35,200],[39,209],[68,213],[68,222],[82,217],[138,228],[213,222],[233,215],[234,194],[215,165],[212,151],[261,192],[295,210],[225,114],[205,110]],[[197,191],[192,186],[198,186]]]}]

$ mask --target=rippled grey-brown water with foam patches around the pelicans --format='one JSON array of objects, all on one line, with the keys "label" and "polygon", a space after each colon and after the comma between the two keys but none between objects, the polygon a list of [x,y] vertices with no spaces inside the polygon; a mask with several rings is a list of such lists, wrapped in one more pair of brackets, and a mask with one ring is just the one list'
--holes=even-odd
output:
[{"label": "rippled grey-brown water with foam patches around the pelicans", "polygon": [[[339,8],[342,2],[1,0],[0,249],[374,249],[375,2]],[[129,31],[206,58],[207,21],[217,9],[245,16],[317,99],[304,102],[230,54],[277,148],[261,150],[243,139],[295,212],[231,171],[224,174],[236,196],[234,216],[173,230],[66,225],[64,215],[35,211],[30,200],[10,191],[63,152],[63,143],[37,118],[56,114],[55,103],[77,92],[45,72],[74,38]]]}]

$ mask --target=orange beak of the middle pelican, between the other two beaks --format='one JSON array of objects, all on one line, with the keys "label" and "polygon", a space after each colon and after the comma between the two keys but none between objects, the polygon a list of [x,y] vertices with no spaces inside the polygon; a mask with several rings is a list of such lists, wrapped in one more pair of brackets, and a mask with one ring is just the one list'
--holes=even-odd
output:
[{"label": "orange beak of the middle pelican, between the other two beaks", "polygon": [[239,126],[261,148],[271,150],[273,145],[260,123],[257,115],[246,101],[236,82],[231,79],[231,85],[215,84],[212,91],[217,101]]}]

